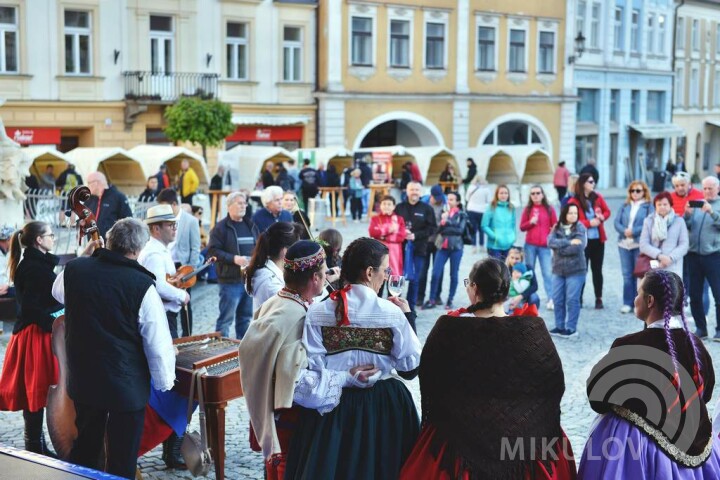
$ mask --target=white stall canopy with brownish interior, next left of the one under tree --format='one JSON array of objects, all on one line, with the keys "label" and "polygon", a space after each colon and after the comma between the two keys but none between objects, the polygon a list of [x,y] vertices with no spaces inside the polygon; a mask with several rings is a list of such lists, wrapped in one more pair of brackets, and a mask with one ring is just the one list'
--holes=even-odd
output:
[{"label": "white stall canopy with brownish interior, next left of the one under tree", "polygon": [[101,172],[126,195],[139,195],[145,189],[147,175],[140,161],[125,149],[81,147],[65,155],[85,182],[91,172]]}]

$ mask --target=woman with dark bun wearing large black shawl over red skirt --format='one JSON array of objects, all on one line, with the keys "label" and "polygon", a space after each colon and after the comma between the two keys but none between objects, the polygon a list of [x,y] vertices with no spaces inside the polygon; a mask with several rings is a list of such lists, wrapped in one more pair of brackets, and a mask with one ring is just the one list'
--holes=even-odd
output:
[{"label": "woman with dark bun wearing large black shawl over red skirt", "polygon": [[545,322],[505,315],[510,273],[498,259],[473,265],[465,285],[472,305],[440,317],[425,342],[423,430],[400,478],[575,478]]}]

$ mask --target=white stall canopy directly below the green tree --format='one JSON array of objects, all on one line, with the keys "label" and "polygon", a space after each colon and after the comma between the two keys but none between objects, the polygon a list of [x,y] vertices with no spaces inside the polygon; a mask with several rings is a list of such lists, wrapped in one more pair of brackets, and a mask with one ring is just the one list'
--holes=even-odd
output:
[{"label": "white stall canopy directly below the green tree", "polygon": [[207,189],[210,177],[205,160],[185,147],[138,145],[130,149],[130,154],[140,160],[145,177],[155,175],[160,169],[160,165],[166,164],[171,182],[175,182],[180,176],[180,164],[183,160],[187,160],[200,179],[200,187]]}]

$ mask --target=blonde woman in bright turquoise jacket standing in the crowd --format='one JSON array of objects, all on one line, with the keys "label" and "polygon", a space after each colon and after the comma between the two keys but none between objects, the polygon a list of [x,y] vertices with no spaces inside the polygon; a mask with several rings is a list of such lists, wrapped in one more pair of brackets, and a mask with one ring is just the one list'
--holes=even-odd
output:
[{"label": "blonde woman in bright turquoise jacket standing in the crowd", "polygon": [[515,207],[507,185],[498,185],[490,208],[483,215],[482,229],[488,236],[488,255],[505,261],[515,243]]}]

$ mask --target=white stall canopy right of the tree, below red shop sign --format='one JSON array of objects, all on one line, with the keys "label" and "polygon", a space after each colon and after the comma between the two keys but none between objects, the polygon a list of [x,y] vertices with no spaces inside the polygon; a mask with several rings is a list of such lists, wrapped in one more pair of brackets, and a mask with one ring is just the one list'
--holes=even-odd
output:
[{"label": "white stall canopy right of the tree, below red shop sign", "polygon": [[282,147],[237,145],[226,152],[220,152],[218,165],[230,172],[233,190],[244,188],[252,191],[260,179],[265,162],[271,161],[277,165],[291,158],[294,158],[293,154]]}]

